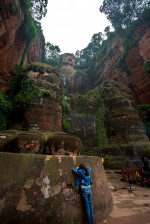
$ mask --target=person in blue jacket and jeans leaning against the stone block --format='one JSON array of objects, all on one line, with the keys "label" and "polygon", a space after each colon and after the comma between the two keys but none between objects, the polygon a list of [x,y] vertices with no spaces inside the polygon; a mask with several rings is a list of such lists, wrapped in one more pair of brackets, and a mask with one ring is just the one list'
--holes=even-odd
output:
[{"label": "person in blue jacket and jeans leaning against the stone block", "polygon": [[80,164],[79,168],[73,168],[73,173],[77,174],[76,188],[81,190],[83,205],[85,208],[88,224],[93,224],[93,206],[92,206],[92,191],[91,184],[93,181],[90,177],[91,168]]}]

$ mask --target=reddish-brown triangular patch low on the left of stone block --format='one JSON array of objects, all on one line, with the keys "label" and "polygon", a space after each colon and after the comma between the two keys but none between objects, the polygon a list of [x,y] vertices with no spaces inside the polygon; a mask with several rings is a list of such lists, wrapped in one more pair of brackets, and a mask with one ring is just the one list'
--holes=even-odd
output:
[{"label": "reddish-brown triangular patch low on the left of stone block", "polygon": [[20,199],[20,201],[19,201],[16,209],[18,211],[22,211],[22,212],[31,210],[31,205],[29,205],[27,203],[27,198],[26,198],[26,195],[25,195],[25,191],[24,190],[22,190],[22,192],[21,192],[21,199]]}]

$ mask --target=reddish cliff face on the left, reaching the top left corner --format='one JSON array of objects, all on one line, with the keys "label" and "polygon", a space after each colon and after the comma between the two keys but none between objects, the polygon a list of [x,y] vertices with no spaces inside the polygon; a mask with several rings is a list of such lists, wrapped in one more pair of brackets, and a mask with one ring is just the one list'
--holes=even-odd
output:
[{"label": "reddish cliff face on the left, reaching the top left corner", "polygon": [[[0,2],[0,91],[3,93],[11,87],[13,77],[10,70],[15,64],[20,64],[26,46],[25,37],[20,30],[23,21],[24,13],[19,1]],[[38,36],[29,49],[24,65],[41,61],[43,47],[43,41]]]}]

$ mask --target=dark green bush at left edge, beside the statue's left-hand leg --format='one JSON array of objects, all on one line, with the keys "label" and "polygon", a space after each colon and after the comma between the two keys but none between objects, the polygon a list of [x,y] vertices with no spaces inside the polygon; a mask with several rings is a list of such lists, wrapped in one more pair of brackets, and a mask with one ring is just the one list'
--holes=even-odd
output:
[{"label": "dark green bush at left edge, beside the statue's left-hand leg", "polygon": [[0,92],[0,131],[6,130],[7,119],[12,109],[9,98]]}]

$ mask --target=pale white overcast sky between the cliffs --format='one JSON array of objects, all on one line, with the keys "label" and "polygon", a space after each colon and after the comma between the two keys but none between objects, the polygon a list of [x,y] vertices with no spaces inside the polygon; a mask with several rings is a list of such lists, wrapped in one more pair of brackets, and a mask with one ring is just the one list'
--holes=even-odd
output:
[{"label": "pale white overcast sky between the cliffs", "polygon": [[103,0],[49,0],[47,15],[41,21],[45,41],[58,45],[61,53],[85,48],[94,33],[110,23],[99,7]]}]

